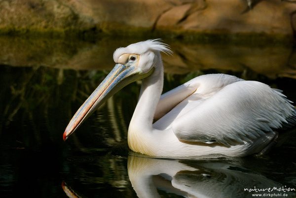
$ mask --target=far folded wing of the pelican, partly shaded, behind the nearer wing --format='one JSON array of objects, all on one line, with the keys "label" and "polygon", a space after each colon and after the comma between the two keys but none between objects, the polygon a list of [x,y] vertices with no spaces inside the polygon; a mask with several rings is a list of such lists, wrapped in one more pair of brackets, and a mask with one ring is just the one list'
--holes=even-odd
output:
[{"label": "far folded wing of the pelican, partly shaded, behind the nearer wing", "polygon": [[[161,95],[154,114],[153,127],[167,129],[171,123],[197,103],[220,91],[226,85],[243,79],[227,74],[206,74],[195,77],[183,85]],[[198,89],[198,90],[197,90]],[[194,101],[192,103],[192,101]],[[169,113],[168,113],[169,112]]]}]

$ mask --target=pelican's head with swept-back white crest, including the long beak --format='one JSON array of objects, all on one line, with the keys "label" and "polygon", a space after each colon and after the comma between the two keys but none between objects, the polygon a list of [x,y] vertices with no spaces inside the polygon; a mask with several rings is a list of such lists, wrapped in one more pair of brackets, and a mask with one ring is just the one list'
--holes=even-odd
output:
[{"label": "pelican's head with swept-back white crest, including the long beak", "polygon": [[146,40],[120,47],[114,51],[116,63],[111,72],[80,106],[68,124],[63,139],[66,140],[101,104],[126,85],[148,77],[154,71],[160,51],[171,53],[159,39]]}]

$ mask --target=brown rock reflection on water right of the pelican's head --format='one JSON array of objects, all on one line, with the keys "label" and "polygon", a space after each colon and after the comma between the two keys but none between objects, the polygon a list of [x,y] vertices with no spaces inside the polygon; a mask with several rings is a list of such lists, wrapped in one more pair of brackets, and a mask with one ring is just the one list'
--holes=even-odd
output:
[{"label": "brown rock reflection on water right of the pelican's head", "polygon": [[169,72],[217,69],[296,78],[296,53],[292,47],[173,43],[172,49],[174,56],[163,58]]}]

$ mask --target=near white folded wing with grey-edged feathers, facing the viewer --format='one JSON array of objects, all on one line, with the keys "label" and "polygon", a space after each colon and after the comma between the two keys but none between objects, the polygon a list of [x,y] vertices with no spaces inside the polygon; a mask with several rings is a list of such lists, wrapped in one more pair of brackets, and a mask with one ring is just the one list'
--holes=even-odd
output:
[{"label": "near white folded wing with grey-edged feathers, facing the viewer", "polygon": [[283,123],[291,124],[287,120],[294,125],[296,111],[290,102],[266,84],[237,81],[207,99],[191,102],[195,106],[186,108],[186,113],[177,116],[170,127],[183,141],[229,146],[256,139],[281,128]]}]

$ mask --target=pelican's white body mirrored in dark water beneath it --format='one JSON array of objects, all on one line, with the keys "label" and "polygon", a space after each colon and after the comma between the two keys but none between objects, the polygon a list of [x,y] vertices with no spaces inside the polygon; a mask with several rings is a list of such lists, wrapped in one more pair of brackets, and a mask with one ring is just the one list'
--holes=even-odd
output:
[{"label": "pelican's white body mirrored in dark water beneath it", "polygon": [[[140,198],[160,197],[159,191],[189,198],[253,197],[245,188],[266,189],[283,185],[241,165],[225,160],[167,160],[128,157],[128,175]],[[274,190],[273,193],[282,193]],[[289,197],[294,196],[289,192]]]}]

